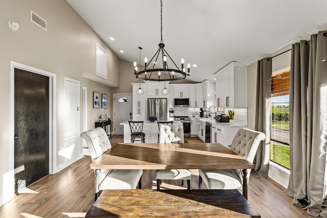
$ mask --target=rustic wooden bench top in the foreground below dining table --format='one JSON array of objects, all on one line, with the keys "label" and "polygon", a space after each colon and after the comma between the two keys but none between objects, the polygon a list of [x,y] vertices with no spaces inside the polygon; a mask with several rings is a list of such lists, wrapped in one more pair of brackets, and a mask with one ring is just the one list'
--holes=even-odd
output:
[{"label": "rustic wooden bench top in the foreground below dining table", "polygon": [[104,190],[85,217],[261,217],[238,190]]}]

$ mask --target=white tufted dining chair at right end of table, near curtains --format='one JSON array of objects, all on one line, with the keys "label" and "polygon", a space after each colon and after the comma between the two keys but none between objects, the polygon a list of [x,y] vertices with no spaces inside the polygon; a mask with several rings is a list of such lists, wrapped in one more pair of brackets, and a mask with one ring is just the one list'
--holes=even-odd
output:
[{"label": "white tufted dining chair at right end of table, near curtains", "polygon": [[[266,135],[249,129],[239,129],[231,142],[230,150],[253,163],[260,141]],[[248,170],[247,182],[251,170]],[[241,169],[199,169],[199,189],[202,180],[208,189],[243,189],[243,176]]]}]

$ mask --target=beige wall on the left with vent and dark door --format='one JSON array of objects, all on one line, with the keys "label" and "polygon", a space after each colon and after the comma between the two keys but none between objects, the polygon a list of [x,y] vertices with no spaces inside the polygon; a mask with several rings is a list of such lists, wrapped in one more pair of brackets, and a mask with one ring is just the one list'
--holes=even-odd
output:
[{"label": "beige wall on the left with vent and dark door", "polygon": [[[87,87],[87,125],[94,128],[94,122],[100,114],[112,112],[112,90],[118,87],[120,59],[87,25],[87,23],[64,0],[12,0],[0,1],[0,205],[3,202],[4,181],[11,171],[12,157],[11,122],[13,108],[10,107],[10,60],[46,70],[57,76],[57,150],[63,148],[64,140],[64,77],[80,81],[81,108],[82,87]],[[30,10],[48,21],[48,31],[36,26],[30,21]],[[19,24],[19,30],[13,31],[8,26],[9,20]],[[96,43],[99,43],[108,53],[108,80],[95,75]],[[93,78],[97,82],[86,78]],[[108,109],[92,108],[92,92],[98,91],[108,95]],[[81,128],[83,125],[81,110]],[[80,147],[82,143],[80,144]],[[82,149],[80,149],[82,150]],[[61,160],[57,158],[57,160]],[[57,166],[63,164],[57,162]],[[10,182],[10,181],[9,181]],[[11,181],[12,182],[12,181]],[[9,183],[10,185],[11,183]]]}]

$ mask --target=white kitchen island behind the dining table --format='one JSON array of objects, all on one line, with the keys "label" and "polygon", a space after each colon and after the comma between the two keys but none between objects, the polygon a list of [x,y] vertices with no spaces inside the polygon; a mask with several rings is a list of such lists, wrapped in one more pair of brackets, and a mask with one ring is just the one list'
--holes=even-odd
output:
[{"label": "white kitchen island behind the dining table", "polygon": [[[160,120],[164,121],[164,120]],[[173,124],[182,124],[178,120],[174,120]],[[120,125],[124,125],[124,142],[131,142],[131,130],[129,128],[128,121],[121,123]],[[143,123],[143,132],[145,133],[145,143],[157,143],[158,142],[158,134],[159,128],[158,123],[150,122],[149,120]],[[141,143],[141,141],[135,141]]]}]

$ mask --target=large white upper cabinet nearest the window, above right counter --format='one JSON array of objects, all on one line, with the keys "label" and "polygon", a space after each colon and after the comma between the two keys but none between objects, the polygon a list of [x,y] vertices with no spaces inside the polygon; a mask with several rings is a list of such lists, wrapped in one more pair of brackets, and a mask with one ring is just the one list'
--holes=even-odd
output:
[{"label": "large white upper cabinet nearest the window, above right counter", "polygon": [[246,66],[231,62],[216,74],[217,107],[246,107]]}]

